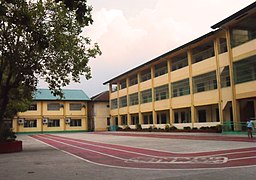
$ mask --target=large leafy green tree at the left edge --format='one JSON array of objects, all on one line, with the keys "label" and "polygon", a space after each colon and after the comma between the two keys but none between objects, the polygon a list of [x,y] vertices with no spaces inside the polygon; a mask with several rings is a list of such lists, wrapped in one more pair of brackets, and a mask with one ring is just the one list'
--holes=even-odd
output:
[{"label": "large leafy green tree at the left edge", "polygon": [[88,61],[101,54],[81,36],[91,11],[85,0],[1,0],[0,126],[27,110],[39,78],[60,97],[71,80],[91,78]]}]

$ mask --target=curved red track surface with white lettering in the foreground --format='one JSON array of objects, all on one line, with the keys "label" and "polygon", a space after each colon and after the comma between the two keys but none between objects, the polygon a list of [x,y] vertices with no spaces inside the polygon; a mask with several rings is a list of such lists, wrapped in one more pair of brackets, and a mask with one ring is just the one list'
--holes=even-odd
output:
[{"label": "curved red track surface with white lettering in the foreground", "polygon": [[256,165],[256,147],[200,153],[171,153],[54,135],[32,137],[88,162],[112,167],[211,169]]}]

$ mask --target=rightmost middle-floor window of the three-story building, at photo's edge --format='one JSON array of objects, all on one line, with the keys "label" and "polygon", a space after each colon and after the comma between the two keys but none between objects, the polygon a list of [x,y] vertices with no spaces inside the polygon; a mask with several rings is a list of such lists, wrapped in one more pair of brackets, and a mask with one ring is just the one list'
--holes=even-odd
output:
[{"label": "rightmost middle-floor window of the three-story building, at photo's edge", "polygon": [[235,84],[256,80],[256,56],[234,63]]}]

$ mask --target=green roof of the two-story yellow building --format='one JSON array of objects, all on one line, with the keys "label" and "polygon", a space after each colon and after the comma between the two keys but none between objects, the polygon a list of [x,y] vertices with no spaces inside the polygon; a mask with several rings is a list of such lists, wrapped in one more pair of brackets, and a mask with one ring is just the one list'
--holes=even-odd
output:
[{"label": "green roof of the two-story yellow building", "polygon": [[[83,90],[63,89],[64,98],[66,101],[89,101],[90,98]],[[49,89],[37,89],[34,95],[34,100],[59,100],[59,96],[54,96]]]}]

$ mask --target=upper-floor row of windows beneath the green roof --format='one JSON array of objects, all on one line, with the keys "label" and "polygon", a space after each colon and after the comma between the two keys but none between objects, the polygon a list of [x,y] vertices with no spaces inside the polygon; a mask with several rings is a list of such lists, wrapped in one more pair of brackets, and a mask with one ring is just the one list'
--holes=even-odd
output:
[{"label": "upper-floor row of windows beneath the green roof", "polygon": [[[63,108],[64,105],[60,103],[48,103],[47,104],[47,110],[48,111],[59,111],[60,108]],[[69,110],[70,111],[81,111],[81,109],[85,107],[81,103],[70,103],[69,104]],[[37,104],[33,103],[30,105],[29,111],[37,111]]]}]

